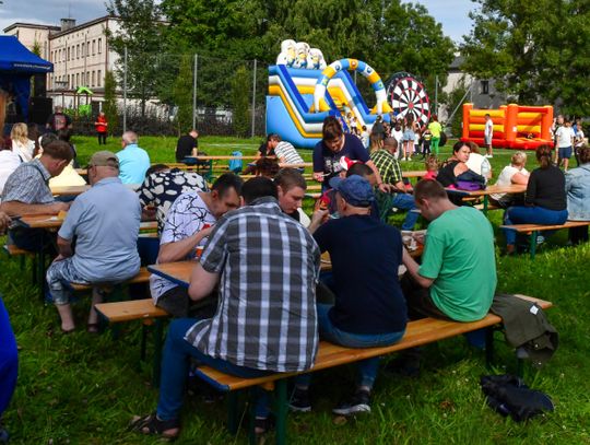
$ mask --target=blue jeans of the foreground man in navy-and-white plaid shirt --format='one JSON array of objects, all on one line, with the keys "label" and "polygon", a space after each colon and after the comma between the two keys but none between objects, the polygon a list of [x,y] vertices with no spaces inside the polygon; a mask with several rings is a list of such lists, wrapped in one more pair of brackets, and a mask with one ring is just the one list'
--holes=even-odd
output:
[{"label": "blue jeans of the foreground man in navy-and-white plaid shirt", "polygon": [[[202,364],[214,367],[223,373],[244,378],[260,377],[273,374],[272,371],[253,370],[238,366],[222,359],[203,354],[185,340],[185,335],[194,325],[194,318],[178,318],[170,323],[164,356],[162,359],[162,377],[160,379],[160,400],[157,417],[161,420],[178,419],[185,397],[186,380],[189,372],[189,358],[193,356]],[[264,390],[260,389],[257,400],[256,415],[268,415],[268,399]]]}]

